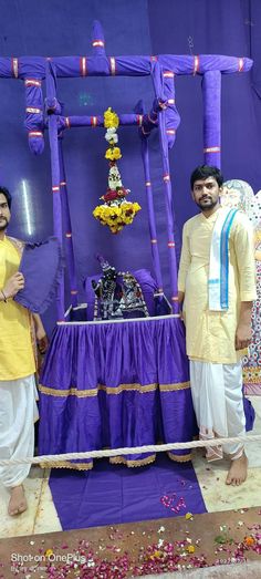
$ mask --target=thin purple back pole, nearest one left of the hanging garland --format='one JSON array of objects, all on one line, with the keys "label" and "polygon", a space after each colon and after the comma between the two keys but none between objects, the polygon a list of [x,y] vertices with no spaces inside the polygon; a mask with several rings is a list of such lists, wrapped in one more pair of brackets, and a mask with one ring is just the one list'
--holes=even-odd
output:
[{"label": "thin purple back pole, nearest one left of the hanging garland", "polygon": [[61,138],[59,138],[59,157],[60,157],[61,201],[62,201],[62,213],[63,213],[63,224],[64,224],[64,235],[65,235],[65,251],[66,251],[66,262],[67,262],[67,272],[69,272],[69,282],[70,282],[70,293],[71,293],[71,303],[72,303],[73,308],[75,308],[77,306],[77,282],[76,282],[75,260],[74,260],[74,251],[73,251],[72,224],[71,224],[70,207],[69,207],[69,199],[67,199],[66,175],[65,175],[65,168],[64,168],[63,146],[62,146]]}]

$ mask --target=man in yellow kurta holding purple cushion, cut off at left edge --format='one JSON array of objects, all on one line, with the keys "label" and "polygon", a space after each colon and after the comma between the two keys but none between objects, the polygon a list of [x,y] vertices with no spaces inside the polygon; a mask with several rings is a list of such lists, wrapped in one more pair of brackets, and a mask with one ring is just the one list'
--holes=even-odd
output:
[{"label": "man in yellow kurta holding purple cushion, cut off at left edge", "polygon": [[[10,207],[11,195],[0,187],[0,457],[20,458],[33,455],[38,407],[30,312],[12,299],[24,287],[24,278],[18,271],[22,244],[6,236]],[[42,339],[38,316],[35,321]],[[10,515],[27,509],[22,483],[29,471],[30,464],[0,466],[0,482],[10,489]]]}]

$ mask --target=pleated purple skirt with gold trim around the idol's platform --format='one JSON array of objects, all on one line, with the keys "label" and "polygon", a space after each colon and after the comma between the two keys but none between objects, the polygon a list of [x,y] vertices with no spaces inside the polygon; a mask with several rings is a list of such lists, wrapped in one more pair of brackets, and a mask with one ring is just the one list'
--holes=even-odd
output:
[{"label": "pleated purple skirt with gold trim around the idol's platform", "polygon": [[[179,318],[59,324],[41,375],[40,453],[191,440],[188,376]],[[170,454],[189,459],[189,451]],[[147,453],[113,462],[153,459]]]}]

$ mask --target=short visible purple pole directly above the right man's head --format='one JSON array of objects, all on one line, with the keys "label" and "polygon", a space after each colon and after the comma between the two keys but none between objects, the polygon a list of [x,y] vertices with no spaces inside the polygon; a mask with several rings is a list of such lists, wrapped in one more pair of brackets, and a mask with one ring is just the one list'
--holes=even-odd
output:
[{"label": "short visible purple pole directly above the right man's head", "polygon": [[208,71],[202,77],[203,162],[221,166],[221,72]]}]

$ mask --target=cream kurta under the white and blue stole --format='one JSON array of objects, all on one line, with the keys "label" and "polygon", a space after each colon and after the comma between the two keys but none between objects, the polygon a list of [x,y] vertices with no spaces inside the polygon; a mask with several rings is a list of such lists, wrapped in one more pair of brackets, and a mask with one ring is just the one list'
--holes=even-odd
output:
[{"label": "cream kurta under the white and blue stole", "polygon": [[236,363],[246,351],[236,351],[234,338],[241,301],[255,293],[253,231],[247,216],[237,213],[229,237],[229,309],[208,308],[208,273],[212,230],[219,208],[210,217],[201,213],[184,226],[178,290],[185,292],[184,318],[190,360]]}]

